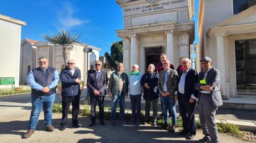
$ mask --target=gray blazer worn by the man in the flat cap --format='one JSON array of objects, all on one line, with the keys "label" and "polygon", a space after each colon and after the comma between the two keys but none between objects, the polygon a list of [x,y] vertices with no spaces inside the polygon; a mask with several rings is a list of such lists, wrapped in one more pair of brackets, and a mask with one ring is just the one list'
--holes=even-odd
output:
[{"label": "gray blazer worn by the man in the flat cap", "polygon": [[[200,72],[199,76],[198,76],[198,81],[196,81],[195,84],[195,89],[198,90],[198,94],[199,94],[199,98],[200,98],[200,85],[204,85],[204,84],[200,84],[200,80],[204,79],[204,72]],[[211,85],[212,86],[212,91],[209,94],[209,96],[211,96],[212,98],[212,106],[213,107],[218,107],[223,105],[223,101],[221,98],[221,94],[220,94],[220,72],[216,69],[211,67],[210,70],[207,73],[207,76],[205,77],[206,83],[207,85]]]}]

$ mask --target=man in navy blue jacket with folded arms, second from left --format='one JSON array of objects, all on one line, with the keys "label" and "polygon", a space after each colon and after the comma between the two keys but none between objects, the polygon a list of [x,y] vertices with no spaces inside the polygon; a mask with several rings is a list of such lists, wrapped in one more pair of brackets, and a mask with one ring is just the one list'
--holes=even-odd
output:
[{"label": "man in navy blue jacket with folded arms, second from left", "polygon": [[60,80],[62,84],[62,122],[61,131],[66,129],[66,122],[68,120],[68,112],[70,103],[72,103],[72,126],[79,128],[78,112],[79,112],[79,98],[81,71],[75,67],[75,60],[69,59],[67,66],[61,70]]}]

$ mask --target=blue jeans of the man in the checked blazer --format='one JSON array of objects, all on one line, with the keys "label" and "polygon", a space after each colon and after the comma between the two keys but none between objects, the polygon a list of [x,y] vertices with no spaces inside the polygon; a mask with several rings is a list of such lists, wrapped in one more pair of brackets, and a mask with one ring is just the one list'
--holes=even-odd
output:
[{"label": "blue jeans of the man in the checked blazer", "polygon": [[167,110],[168,107],[171,109],[171,119],[172,119],[172,125],[177,125],[177,112],[176,112],[176,106],[175,106],[175,99],[171,98],[170,96],[167,97],[161,97],[162,105],[163,105],[163,119],[165,120],[165,125],[168,125],[168,115]]}]

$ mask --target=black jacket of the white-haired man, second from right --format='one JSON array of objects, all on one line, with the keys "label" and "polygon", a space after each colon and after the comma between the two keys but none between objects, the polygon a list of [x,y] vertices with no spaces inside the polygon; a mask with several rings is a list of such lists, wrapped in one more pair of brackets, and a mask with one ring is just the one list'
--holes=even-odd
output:
[{"label": "black jacket of the white-haired man, second from right", "polygon": [[[196,72],[194,69],[190,68],[190,70],[188,71],[186,77],[185,77],[185,87],[184,87],[184,96],[181,97],[181,93],[179,93],[179,90],[177,88],[178,91],[178,99],[187,99],[189,100],[191,95],[194,94],[194,96],[196,98],[198,98],[198,90],[195,90],[195,83],[198,79],[198,72]],[[179,80],[181,80],[181,76],[178,79],[178,84],[179,84]],[[178,85],[179,87],[179,85]]]}]

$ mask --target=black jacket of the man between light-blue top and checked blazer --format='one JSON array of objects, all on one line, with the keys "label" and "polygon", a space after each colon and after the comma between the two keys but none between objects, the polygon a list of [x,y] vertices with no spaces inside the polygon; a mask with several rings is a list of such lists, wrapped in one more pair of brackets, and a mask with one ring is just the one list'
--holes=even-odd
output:
[{"label": "black jacket of the man between light-blue top and checked blazer", "polygon": [[[157,99],[159,98],[159,91],[157,88],[157,81],[158,81],[159,75],[156,72],[153,73],[144,73],[144,75],[141,77],[140,84],[143,86],[144,93],[143,93],[143,98],[146,99],[148,96],[148,93],[150,92],[150,99]],[[148,83],[150,86],[149,89],[146,89],[144,87],[144,84]]]}]

